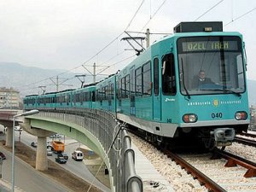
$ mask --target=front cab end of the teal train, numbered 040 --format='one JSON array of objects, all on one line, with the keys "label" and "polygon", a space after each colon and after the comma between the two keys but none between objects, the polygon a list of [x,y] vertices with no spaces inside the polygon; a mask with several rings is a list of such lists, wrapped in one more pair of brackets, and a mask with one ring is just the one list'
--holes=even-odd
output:
[{"label": "front cab end of the teal train, numbered 040", "polygon": [[181,31],[169,44],[162,56],[162,120],[176,126],[173,137],[194,133],[230,145],[249,124],[241,34]]}]

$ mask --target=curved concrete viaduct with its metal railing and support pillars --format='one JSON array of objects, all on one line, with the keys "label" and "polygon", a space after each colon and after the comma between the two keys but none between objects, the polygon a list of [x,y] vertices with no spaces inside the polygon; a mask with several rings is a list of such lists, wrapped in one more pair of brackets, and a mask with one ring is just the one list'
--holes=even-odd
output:
[{"label": "curved concrete viaduct with its metal railing and support pillars", "polygon": [[[6,146],[10,148],[13,143],[14,116],[19,113],[22,111],[0,110],[0,124],[8,127]],[[48,169],[47,137],[61,133],[83,143],[102,157],[108,167],[112,191],[143,191],[142,179],[135,171],[131,139],[124,127],[111,114],[98,110],[40,110],[36,115],[20,116],[15,119],[15,125],[19,124],[25,131],[38,137],[36,158],[38,171]],[[121,150],[122,155],[119,155],[116,148]]]}]

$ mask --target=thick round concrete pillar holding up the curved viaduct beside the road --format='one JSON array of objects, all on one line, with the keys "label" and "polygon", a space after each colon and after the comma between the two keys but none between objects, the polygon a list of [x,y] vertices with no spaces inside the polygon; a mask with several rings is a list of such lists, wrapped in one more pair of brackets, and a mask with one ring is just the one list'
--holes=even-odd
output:
[{"label": "thick round concrete pillar holding up the curved viaduct beside the road", "polygon": [[36,170],[46,171],[48,170],[48,160],[46,152],[46,137],[38,137]]}]

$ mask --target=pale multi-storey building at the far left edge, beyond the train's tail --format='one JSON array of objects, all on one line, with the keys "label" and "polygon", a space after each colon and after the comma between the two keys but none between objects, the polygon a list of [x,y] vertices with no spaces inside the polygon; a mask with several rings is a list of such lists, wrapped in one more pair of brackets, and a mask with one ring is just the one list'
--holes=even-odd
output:
[{"label": "pale multi-storey building at the far left edge, beyond the train's tail", "polygon": [[0,87],[0,108],[18,109],[20,105],[19,91]]}]

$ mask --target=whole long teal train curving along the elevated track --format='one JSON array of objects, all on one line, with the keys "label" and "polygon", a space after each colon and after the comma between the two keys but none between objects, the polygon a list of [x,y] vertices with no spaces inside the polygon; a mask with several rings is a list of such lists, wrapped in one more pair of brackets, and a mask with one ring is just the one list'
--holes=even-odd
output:
[{"label": "whole long teal train curving along the elevated track", "polygon": [[78,90],[26,96],[25,109],[97,108],[150,141],[227,146],[247,131],[245,44],[222,22],[182,22],[119,73]]}]

